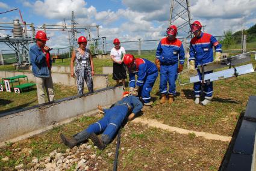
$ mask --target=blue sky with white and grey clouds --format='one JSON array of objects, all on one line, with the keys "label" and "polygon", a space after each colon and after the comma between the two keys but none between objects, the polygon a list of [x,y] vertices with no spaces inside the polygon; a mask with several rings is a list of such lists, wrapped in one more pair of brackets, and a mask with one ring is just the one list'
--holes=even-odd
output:
[{"label": "blue sky with white and grey clouds", "polygon": [[[190,1],[192,20],[206,25],[206,32],[223,35],[223,31],[246,29],[256,23],[256,1],[250,0],[193,0]],[[169,0],[14,0],[0,1],[0,12],[19,8],[23,20],[36,26],[70,23],[72,10],[80,25],[100,25],[100,36],[107,41],[160,40],[168,26]],[[20,19],[19,11],[0,14],[0,22]],[[0,31],[4,36],[8,31]],[[65,32],[48,32],[50,45],[67,45]],[[80,35],[85,32],[81,31]],[[93,32],[93,36],[96,32]],[[179,31],[183,37],[184,32]]]}]

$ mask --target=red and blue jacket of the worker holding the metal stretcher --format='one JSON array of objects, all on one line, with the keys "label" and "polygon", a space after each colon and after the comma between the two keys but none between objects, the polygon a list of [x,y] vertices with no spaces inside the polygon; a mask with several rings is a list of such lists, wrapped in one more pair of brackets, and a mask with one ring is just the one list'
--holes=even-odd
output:
[{"label": "red and blue jacket of the worker holding the metal stretcher", "polygon": [[213,62],[213,46],[216,52],[222,52],[222,45],[213,35],[201,33],[190,41],[189,61],[195,60],[196,65]]}]

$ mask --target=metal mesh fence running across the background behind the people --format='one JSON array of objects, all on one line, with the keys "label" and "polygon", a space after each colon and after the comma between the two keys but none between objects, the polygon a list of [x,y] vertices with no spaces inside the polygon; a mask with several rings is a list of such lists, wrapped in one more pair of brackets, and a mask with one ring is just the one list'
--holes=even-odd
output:
[{"label": "metal mesh fence running across the background behind the people", "polygon": [[[239,53],[256,50],[256,34],[250,35],[231,35],[231,36],[214,36],[222,44],[222,51],[229,53],[229,56]],[[183,42],[185,52],[189,52],[190,38],[180,38]],[[126,50],[126,53],[133,55],[149,55],[154,54],[160,40],[136,40],[136,41],[121,41],[121,46]],[[88,44],[87,47],[90,47]],[[101,43],[98,44],[98,53],[101,54]],[[107,54],[114,47],[112,42],[106,43]],[[91,49],[93,49],[91,47]],[[93,50],[92,50],[93,51]],[[93,51],[94,52],[94,51]],[[70,48],[54,49],[51,51],[52,56],[59,58],[71,58],[72,52]],[[98,54],[96,54],[98,55]],[[8,64],[16,62],[15,52],[11,50],[0,50],[0,64]]]}]

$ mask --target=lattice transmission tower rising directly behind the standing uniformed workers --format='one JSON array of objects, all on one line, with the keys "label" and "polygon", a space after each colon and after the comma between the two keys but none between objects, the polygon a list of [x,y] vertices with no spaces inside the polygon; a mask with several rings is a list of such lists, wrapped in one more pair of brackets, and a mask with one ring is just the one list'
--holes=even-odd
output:
[{"label": "lattice transmission tower rising directly behind the standing uniformed workers", "polygon": [[176,25],[179,34],[191,37],[190,34],[190,4],[189,0],[171,0],[169,25]]}]

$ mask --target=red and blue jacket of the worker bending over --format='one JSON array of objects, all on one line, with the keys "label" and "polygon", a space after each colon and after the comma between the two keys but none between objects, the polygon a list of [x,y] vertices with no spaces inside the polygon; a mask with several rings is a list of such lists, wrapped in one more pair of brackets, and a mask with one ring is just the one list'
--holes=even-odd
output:
[{"label": "red and blue jacket of the worker bending over", "polygon": [[[148,59],[136,58],[136,70],[129,71],[129,86],[135,87],[142,86],[146,80],[146,77],[150,74],[157,73],[157,66]],[[137,82],[135,80],[135,75],[137,74]]]}]

